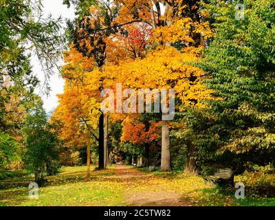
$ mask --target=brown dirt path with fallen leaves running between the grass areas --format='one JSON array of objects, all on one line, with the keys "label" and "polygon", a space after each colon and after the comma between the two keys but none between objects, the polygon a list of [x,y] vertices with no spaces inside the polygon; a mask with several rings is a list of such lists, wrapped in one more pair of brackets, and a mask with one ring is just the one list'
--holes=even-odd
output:
[{"label": "brown dirt path with fallen leaves running between the grass areas", "polygon": [[[153,181],[154,176],[150,173],[142,173],[136,168],[131,168],[130,166],[125,166],[117,164],[113,169],[115,172],[115,179],[124,181],[128,179],[128,183],[140,182],[146,186],[151,186],[151,181]],[[188,200],[179,192],[173,192],[166,188],[159,187],[159,190],[129,190],[126,192],[126,203],[129,206],[189,206]]]}]

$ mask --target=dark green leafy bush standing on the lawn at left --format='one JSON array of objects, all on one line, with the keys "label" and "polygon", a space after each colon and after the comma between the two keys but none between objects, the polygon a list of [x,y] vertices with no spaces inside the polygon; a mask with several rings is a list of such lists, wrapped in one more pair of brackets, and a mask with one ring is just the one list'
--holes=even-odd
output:
[{"label": "dark green leafy bush standing on the lawn at left", "polygon": [[58,139],[50,131],[43,103],[39,102],[25,120],[21,129],[26,152],[23,155],[26,168],[35,175],[37,182],[43,183],[44,175],[58,173]]}]

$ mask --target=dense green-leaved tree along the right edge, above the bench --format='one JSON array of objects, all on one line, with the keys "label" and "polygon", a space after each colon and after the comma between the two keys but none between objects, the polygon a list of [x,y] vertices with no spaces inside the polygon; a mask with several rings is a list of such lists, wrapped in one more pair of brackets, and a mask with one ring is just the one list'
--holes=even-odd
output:
[{"label": "dense green-leaved tree along the right edge, above the bench", "polygon": [[212,129],[223,140],[216,142],[219,152],[239,154],[243,164],[266,163],[274,155],[266,149],[275,146],[275,65],[270,62],[275,58],[275,20],[270,17],[275,1],[243,1],[244,20],[234,18],[235,4],[202,4],[210,13],[216,37],[205,50],[201,67],[210,76],[208,87],[222,98],[210,103],[209,111],[217,118]]}]

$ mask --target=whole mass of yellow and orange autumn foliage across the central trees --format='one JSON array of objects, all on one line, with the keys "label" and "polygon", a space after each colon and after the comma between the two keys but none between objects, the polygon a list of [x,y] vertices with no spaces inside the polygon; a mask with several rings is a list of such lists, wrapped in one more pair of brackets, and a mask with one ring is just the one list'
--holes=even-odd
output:
[{"label": "whole mass of yellow and orange autumn foliage across the central trees", "polygon": [[[177,111],[190,106],[206,107],[202,101],[212,99],[212,91],[202,83],[205,77],[203,71],[192,63],[199,61],[201,47],[196,44],[197,41],[203,42],[213,33],[209,23],[186,17],[186,10],[198,13],[195,3],[190,8],[181,0],[169,2],[173,3],[173,7],[166,5],[164,14],[157,14],[154,8],[157,1],[115,1],[120,4],[120,10],[111,25],[126,23],[123,28],[129,34],[122,36],[118,32],[101,39],[106,44],[106,58],[102,67],[98,67],[93,57],[83,56],[71,45],[69,52],[65,53],[66,64],[63,67],[65,91],[58,96],[60,106],[54,115],[63,122],[65,130],[73,127],[70,131],[61,131],[63,137],[74,137],[76,142],[83,141],[79,138],[84,130],[80,120],[88,120],[89,126],[97,131],[100,103],[103,100],[100,91],[115,90],[118,83],[122,83],[122,89],[131,88],[135,91],[175,89],[177,100],[181,102]],[[99,16],[100,9],[91,7],[90,10],[91,28],[94,25],[92,21],[96,19],[102,23],[102,28],[106,28]],[[78,32],[81,34],[83,30],[80,28]],[[97,41],[95,38],[94,45]],[[80,45],[84,43],[88,45],[88,50],[94,50],[89,46],[89,39],[83,39]],[[181,43],[184,48],[177,50],[172,46],[173,43]],[[124,128],[133,124],[135,117],[138,118],[138,114],[111,113],[110,116],[113,121],[124,120]],[[135,126],[142,128],[143,125]]]}]

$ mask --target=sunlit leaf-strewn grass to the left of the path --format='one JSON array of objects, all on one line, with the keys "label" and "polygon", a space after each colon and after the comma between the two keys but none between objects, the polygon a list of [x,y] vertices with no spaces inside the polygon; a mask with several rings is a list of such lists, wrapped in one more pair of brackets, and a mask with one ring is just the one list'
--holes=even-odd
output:
[{"label": "sunlit leaf-strewn grass to the left of the path", "polygon": [[[94,169],[95,167],[93,167]],[[101,177],[113,175],[111,170],[92,171],[86,179],[86,167],[63,167],[61,174],[47,177],[39,188],[39,199],[29,199],[28,184],[32,179],[17,178],[25,184],[0,190],[0,206],[118,206],[124,200],[121,184]]]}]

